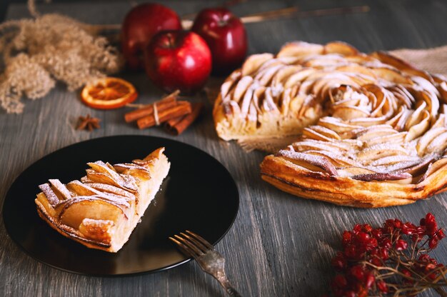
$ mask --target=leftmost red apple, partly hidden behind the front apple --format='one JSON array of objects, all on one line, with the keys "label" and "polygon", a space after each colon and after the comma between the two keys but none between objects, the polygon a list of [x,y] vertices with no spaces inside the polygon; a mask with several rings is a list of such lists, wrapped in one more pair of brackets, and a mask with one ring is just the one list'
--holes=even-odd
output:
[{"label": "leftmost red apple, partly hidden behind the front apple", "polygon": [[130,69],[143,69],[144,49],[152,36],[162,30],[179,30],[181,21],[175,11],[155,3],[135,6],[121,27],[121,51]]}]

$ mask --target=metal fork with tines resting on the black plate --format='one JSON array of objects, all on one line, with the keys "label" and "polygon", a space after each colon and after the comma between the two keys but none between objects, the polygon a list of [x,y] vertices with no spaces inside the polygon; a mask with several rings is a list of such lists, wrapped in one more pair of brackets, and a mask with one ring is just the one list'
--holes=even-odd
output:
[{"label": "metal fork with tines resting on the black plate", "polygon": [[216,278],[229,296],[241,297],[241,294],[231,286],[225,275],[224,257],[214,249],[211,243],[188,230],[185,233],[181,232],[180,235],[169,237],[169,239],[174,241],[182,251],[195,258],[202,270]]}]

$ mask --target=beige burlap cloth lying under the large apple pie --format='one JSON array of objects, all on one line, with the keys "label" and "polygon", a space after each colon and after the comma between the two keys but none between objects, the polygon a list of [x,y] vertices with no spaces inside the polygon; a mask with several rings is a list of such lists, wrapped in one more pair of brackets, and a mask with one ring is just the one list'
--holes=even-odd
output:
[{"label": "beige burlap cloth lying under the large apple pie", "polygon": [[[423,69],[432,74],[443,74],[447,76],[447,46],[439,46],[434,49],[396,49],[389,51],[389,53],[407,61],[418,69]],[[259,150],[267,153],[275,153],[279,149],[285,148],[293,143],[296,139],[298,139],[298,136],[284,137],[281,139],[242,139],[238,141],[238,144],[247,152]]]}]

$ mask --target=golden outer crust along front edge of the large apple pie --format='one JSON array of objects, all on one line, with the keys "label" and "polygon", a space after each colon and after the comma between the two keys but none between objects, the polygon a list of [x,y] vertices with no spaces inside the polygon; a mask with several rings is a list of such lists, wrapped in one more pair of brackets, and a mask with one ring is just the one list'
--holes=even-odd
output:
[{"label": "golden outer crust along front edge of the large apple pie", "polygon": [[[446,191],[447,159],[439,160],[436,173],[417,184],[393,181],[358,181],[351,177],[331,176],[300,168],[273,155],[261,163],[261,178],[276,188],[303,198],[316,199],[343,206],[377,208],[416,202]],[[442,162],[442,164],[441,164]]]}]

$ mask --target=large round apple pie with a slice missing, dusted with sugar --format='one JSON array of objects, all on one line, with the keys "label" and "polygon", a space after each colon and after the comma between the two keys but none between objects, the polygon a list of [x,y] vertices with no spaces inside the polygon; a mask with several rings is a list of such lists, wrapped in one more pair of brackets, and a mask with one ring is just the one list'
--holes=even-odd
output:
[{"label": "large round apple pie with a slice missing, dusted with sugar", "polygon": [[261,163],[283,191],[346,206],[413,203],[447,186],[447,80],[384,52],[293,42],[248,57],[214,106],[222,139],[297,140]]}]

